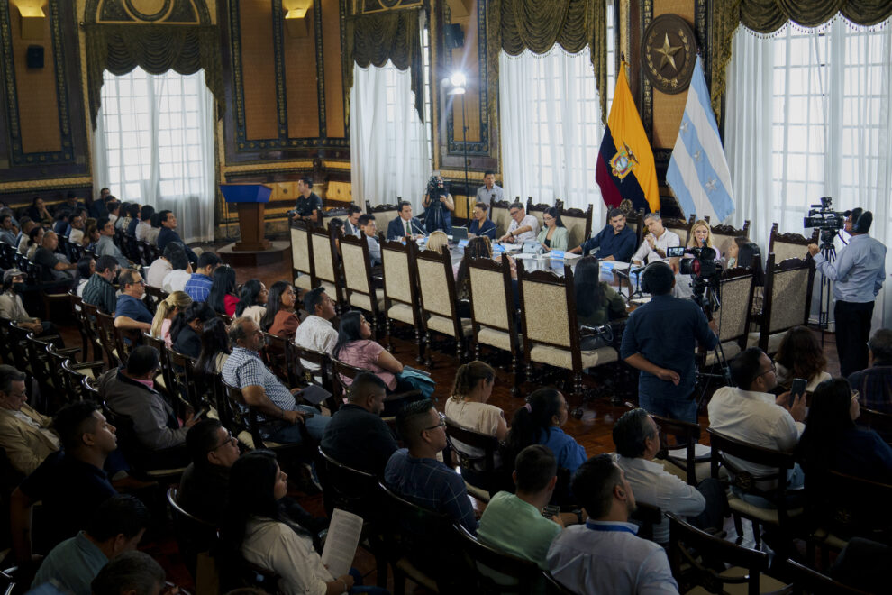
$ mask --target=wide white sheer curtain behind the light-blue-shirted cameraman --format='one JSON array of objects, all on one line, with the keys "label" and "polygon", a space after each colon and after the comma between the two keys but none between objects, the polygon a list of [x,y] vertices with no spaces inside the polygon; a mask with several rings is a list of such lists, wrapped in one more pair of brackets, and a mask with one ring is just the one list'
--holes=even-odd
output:
[{"label": "wide white sheer curtain behind the light-blue-shirted cameraman", "polygon": [[[809,207],[833,197],[836,210],[873,211],[870,234],[890,245],[890,23],[866,29],[837,17],[816,30],[787,25],[768,38],[741,28],[732,56],[725,151],[737,197],[733,223],[750,219],[764,250],[772,222],[782,233],[804,233]],[[890,265],[892,251],[887,273]],[[892,325],[886,290],[874,309],[880,325]]]}]

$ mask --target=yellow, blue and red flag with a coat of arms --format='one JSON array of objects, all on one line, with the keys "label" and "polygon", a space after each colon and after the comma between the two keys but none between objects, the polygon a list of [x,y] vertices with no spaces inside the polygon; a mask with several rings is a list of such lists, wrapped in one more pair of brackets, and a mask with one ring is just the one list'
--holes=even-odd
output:
[{"label": "yellow, blue and red flag with a coat of arms", "polygon": [[644,133],[642,119],[625,78],[628,65],[620,66],[616,79],[614,103],[607,116],[607,128],[601,139],[595,179],[607,206],[620,206],[623,199],[635,209],[660,210],[657,169],[653,164],[651,142]]}]

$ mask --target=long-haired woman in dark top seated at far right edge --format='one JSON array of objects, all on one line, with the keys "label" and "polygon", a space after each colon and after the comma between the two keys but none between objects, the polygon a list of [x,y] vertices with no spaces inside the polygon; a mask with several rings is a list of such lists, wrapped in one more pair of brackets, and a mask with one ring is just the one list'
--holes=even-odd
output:
[{"label": "long-haired woman in dark top seated at far right edge", "polygon": [[[797,447],[808,490],[825,471],[892,483],[892,448],[873,430],[856,427],[859,415],[858,393],[845,379],[824,380],[817,386]],[[820,482],[816,487],[823,491]]]}]

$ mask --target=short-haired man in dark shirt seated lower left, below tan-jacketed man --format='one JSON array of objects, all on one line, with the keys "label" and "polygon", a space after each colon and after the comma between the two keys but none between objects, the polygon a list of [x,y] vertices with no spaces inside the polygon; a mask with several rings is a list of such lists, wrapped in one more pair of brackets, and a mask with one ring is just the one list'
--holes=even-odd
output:
[{"label": "short-haired man in dark shirt seated lower left, below tan-jacketed man", "polygon": [[[32,559],[32,507],[43,502],[43,523],[50,547],[85,528],[99,505],[117,492],[103,471],[105,458],[117,448],[114,426],[93,401],[75,401],[53,420],[63,450],[52,453],[13,492],[10,499],[15,560]],[[77,490],[72,490],[77,486]]]}]

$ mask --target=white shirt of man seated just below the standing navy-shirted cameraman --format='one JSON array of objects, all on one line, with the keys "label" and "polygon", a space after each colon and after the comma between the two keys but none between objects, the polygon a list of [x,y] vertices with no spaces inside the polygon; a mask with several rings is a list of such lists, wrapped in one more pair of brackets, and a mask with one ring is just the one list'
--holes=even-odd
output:
[{"label": "white shirt of man seated just below the standing navy-shirted cameraman", "polygon": [[[625,471],[635,500],[660,507],[660,512],[674,512],[681,517],[696,517],[706,508],[706,499],[694,486],[681,481],[659,463],[642,458],[627,459],[614,454],[616,464]],[[669,518],[653,526],[653,540],[669,543]]]}]

